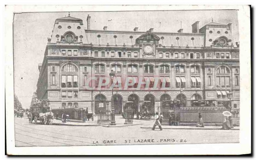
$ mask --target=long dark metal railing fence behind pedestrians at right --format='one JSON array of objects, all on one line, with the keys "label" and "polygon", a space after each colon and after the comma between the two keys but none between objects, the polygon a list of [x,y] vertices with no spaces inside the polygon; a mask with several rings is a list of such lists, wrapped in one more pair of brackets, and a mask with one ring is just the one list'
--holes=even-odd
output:
[{"label": "long dark metal railing fence behind pedestrians at right", "polygon": [[[204,123],[222,123],[225,120],[225,117],[222,115],[223,111],[226,111],[226,108],[173,108],[175,121],[181,123],[196,123],[198,122],[198,113],[200,112],[203,118]],[[232,122],[234,124],[239,124],[239,108],[232,108],[229,110],[232,113]],[[163,122],[169,122],[170,112],[163,112]]]}]

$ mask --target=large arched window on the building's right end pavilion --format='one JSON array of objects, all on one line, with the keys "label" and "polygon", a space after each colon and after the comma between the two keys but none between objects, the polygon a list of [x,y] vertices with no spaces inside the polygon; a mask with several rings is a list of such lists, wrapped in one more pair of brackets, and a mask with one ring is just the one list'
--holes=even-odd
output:
[{"label": "large arched window on the building's right end pavilion", "polygon": [[228,67],[220,66],[217,68],[216,87],[221,87],[221,88],[230,87],[230,71]]}]

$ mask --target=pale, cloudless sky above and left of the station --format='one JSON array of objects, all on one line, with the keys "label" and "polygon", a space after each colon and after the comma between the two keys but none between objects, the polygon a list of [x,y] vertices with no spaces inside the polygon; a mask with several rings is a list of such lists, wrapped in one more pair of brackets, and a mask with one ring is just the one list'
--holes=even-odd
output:
[{"label": "pale, cloudless sky above and left of the station", "polygon": [[[86,17],[91,16],[91,29],[177,32],[192,32],[191,25],[199,22],[201,28],[213,22],[232,23],[232,35],[239,41],[238,19],[236,10],[173,10],[173,11],[119,11],[119,12],[70,12],[71,17],[83,20],[86,29]],[[30,12],[15,14],[13,20],[14,47],[14,93],[22,107],[29,108],[32,95],[36,92],[39,76],[38,64],[43,62],[47,37],[51,36],[56,18],[67,17],[68,12]],[[181,22],[181,23],[180,23]],[[182,26],[181,26],[182,25]]]}]

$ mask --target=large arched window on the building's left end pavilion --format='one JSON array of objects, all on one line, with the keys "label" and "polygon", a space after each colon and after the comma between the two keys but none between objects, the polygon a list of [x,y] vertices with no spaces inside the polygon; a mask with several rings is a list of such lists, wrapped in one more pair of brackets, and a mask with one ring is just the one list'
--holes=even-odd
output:
[{"label": "large arched window on the building's left end pavilion", "polygon": [[78,87],[78,69],[73,64],[66,64],[61,69],[61,87]]}]

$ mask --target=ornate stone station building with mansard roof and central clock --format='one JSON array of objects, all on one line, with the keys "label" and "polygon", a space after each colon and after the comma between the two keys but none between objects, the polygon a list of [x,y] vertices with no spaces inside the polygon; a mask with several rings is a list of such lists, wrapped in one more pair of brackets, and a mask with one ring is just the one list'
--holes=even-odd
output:
[{"label": "ornate stone station building with mansard roof and central clock", "polygon": [[232,24],[212,21],[199,28],[197,21],[191,28],[192,33],[93,30],[89,15],[86,27],[79,18],[57,18],[38,65],[37,97],[54,109],[110,110],[112,81],[104,77],[113,70],[113,83],[121,86],[113,88],[116,113],[127,101],[136,111],[150,101],[151,111],[159,112],[163,100],[178,99],[186,107],[196,99],[228,100],[230,91],[232,107],[239,108],[239,42],[233,41]]}]

